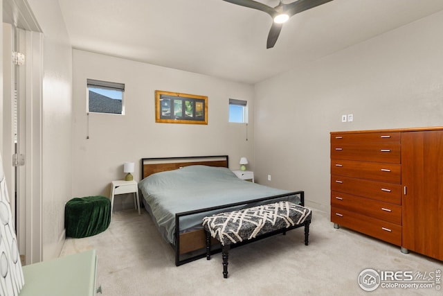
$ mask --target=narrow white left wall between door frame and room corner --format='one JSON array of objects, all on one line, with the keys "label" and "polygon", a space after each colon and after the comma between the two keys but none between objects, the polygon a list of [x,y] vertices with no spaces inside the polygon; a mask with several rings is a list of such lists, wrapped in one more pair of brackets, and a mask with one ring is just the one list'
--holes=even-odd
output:
[{"label": "narrow white left wall between door frame and room corner", "polygon": [[57,0],[28,0],[44,34],[42,87],[43,259],[64,243],[64,204],[71,199],[72,49]]}]

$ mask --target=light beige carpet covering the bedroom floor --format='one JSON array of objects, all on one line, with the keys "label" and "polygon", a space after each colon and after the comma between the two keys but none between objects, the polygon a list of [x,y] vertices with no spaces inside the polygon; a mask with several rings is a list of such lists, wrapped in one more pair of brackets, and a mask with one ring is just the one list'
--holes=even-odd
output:
[{"label": "light beige carpet covering the bedroom floor", "polygon": [[[303,228],[230,251],[228,279],[221,254],[179,267],[172,247],[146,211],[114,213],[109,228],[88,238],[66,238],[61,256],[96,249],[103,295],[368,295],[359,273],[374,270],[435,272],[442,262],[348,229],[313,211],[309,245]],[[431,274],[432,275],[432,274]],[[372,295],[442,295],[435,288],[377,288]]]}]

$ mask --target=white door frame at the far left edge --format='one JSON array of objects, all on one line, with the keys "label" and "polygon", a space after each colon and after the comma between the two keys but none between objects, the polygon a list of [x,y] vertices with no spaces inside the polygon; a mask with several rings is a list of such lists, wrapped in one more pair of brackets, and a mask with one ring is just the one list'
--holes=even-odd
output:
[{"label": "white door frame at the far left edge", "polygon": [[[25,165],[17,167],[16,190],[19,251],[20,254],[25,255],[25,263],[30,264],[43,259],[42,61],[44,37],[26,0],[3,0],[3,22],[12,24],[13,30],[15,27],[20,28],[15,34],[16,44],[18,44],[16,51],[25,53],[26,56],[25,64],[20,66],[18,76],[15,76],[19,80],[19,112],[21,113],[19,114],[17,154],[25,156]],[[5,67],[4,64],[3,67]],[[22,69],[24,71],[21,71]],[[1,103],[4,104],[9,99],[11,98],[4,97]],[[8,112],[8,110],[2,111],[2,114]],[[3,126],[1,132],[4,139],[5,132],[8,131]],[[3,142],[2,145],[4,147],[9,143]],[[9,157],[12,158],[11,155],[3,155],[3,159]],[[12,166],[12,162],[10,164]]]}]

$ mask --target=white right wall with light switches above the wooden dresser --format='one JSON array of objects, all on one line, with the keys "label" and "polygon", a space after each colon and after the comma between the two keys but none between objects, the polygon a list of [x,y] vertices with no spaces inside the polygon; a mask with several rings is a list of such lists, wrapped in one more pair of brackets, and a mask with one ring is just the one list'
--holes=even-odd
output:
[{"label": "white right wall with light switches above the wooden dresser", "polygon": [[442,28],[438,12],[255,85],[258,182],[329,211],[329,132],[443,125]]}]

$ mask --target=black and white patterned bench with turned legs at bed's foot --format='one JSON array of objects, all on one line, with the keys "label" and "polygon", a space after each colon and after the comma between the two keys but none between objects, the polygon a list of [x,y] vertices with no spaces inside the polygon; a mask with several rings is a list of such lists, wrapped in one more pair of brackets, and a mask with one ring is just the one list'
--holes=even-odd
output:
[{"label": "black and white patterned bench with turned legs at bed's foot", "polygon": [[275,202],[239,211],[230,211],[203,218],[206,232],[206,259],[210,259],[210,237],[221,243],[223,277],[228,277],[228,256],[231,245],[251,241],[260,236],[283,233],[305,226],[308,245],[311,210],[292,202]]}]

